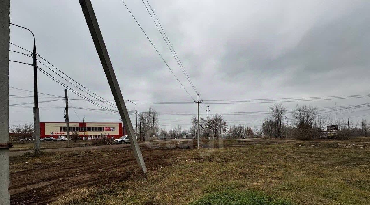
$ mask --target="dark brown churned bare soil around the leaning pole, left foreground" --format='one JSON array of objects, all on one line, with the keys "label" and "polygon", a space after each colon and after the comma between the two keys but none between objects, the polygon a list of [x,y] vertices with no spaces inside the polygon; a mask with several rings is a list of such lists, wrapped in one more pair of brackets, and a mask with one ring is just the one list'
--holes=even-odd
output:
[{"label": "dark brown churned bare soil around the leaning pole, left foreground", "polygon": [[[157,160],[158,156],[171,156],[171,151],[143,150],[148,170],[177,163],[176,160]],[[131,148],[91,151],[84,155],[64,154],[64,160],[69,163],[63,166],[38,161],[31,170],[11,173],[10,203],[48,204],[71,189],[98,187],[126,180],[138,169]]]}]

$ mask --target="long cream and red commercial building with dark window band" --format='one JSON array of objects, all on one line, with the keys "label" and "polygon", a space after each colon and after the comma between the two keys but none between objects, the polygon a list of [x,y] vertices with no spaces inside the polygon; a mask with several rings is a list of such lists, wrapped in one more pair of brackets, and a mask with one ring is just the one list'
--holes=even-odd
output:
[{"label": "long cream and red commercial building with dark window band", "polygon": [[[69,123],[70,135],[78,132],[83,140],[101,139],[102,137],[117,139],[126,135],[126,130],[121,122],[107,123]],[[84,135],[85,133],[85,135]],[[40,122],[40,137],[67,137],[67,123],[65,122]]]}]

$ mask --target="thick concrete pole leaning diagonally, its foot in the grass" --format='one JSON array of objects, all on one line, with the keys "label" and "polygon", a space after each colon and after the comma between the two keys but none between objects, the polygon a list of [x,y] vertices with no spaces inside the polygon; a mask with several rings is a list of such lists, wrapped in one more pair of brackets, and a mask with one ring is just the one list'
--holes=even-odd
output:
[{"label": "thick concrete pole leaning diagonally, its foot in the grass", "polygon": [[128,136],[131,137],[130,144],[131,144],[132,150],[134,151],[136,161],[141,171],[143,173],[146,173],[147,167],[145,167],[145,163],[141,155],[139,143],[134,137],[135,131],[134,131],[134,128],[132,127],[130,116],[128,115],[125,101],[122,96],[120,86],[118,85],[117,77],[115,76],[115,73],[114,73],[112,62],[109,58],[107,48],[105,47],[105,43],[101,35],[99,24],[98,24],[98,21],[94,13],[94,8],[92,8],[92,4],[90,0],[79,0],[79,1],[81,4],[82,11],[85,16],[86,23],[89,27],[92,40],[94,41],[96,51],[98,52],[100,62],[103,66],[105,76],[107,76],[107,80],[111,88],[115,103],[117,105],[118,112],[120,113],[122,123],[124,124],[125,129],[127,130]]}]

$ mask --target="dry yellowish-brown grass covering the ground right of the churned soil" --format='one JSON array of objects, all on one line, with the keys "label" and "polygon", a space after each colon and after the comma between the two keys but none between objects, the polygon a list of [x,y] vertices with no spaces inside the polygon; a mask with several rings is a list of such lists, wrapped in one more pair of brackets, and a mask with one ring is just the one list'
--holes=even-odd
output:
[{"label": "dry yellowish-brown grass covering the ground right of the churned soil", "polygon": [[370,204],[369,148],[230,145],[158,155],[157,160],[176,163],[145,175],[134,172],[104,187],[73,190],[53,204],[207,204],[203,199],[225,189],[293,204]]}]

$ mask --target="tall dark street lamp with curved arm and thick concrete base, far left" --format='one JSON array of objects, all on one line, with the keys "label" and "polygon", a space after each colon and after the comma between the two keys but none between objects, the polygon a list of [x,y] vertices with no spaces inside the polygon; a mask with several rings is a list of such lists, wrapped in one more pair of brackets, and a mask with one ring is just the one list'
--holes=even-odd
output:
[{"label": "tall dark street lamp with curved arm and thick concrete base, far left", "polygon": [[33,129],[34,129],[34,135],[35,135],[35,154],[38,156],[40,154],[40,115],[39,115],[39,109],[38,109],[38,101],[37,101],[37,52],[36,52],[36,43],[35,43],[35,35],[32,33],[31,30],[28,28],[25,28],[23,26],[12,24],[20,28],[24,28],[31,32],[33,36],[33,92],[34,92],[34,103],[35,107],[33,108]]}]

